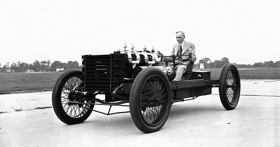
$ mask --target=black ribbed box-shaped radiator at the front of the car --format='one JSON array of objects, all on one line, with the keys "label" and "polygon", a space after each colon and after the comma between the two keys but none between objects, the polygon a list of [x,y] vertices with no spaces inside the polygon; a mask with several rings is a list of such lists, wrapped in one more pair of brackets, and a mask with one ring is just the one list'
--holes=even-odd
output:
[{"label": "black ribbed box-shaped radiator at the front of the car", "polygon": [[84,55],[83,91],[112,92],[124,82],[126,73],[126,56],[123,54]]}]

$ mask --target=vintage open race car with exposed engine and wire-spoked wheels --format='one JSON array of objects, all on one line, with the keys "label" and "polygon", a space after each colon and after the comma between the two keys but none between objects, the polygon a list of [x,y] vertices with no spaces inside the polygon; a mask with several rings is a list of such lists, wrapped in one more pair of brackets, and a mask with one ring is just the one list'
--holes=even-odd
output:
[{"label": "vintage open race car with exposed engine and wire-spoked wheels", "polygon": [[[158,63],[154,49],[134,52],[125,46],[123,51],[83,55],[82,59],[83,69],[64,72],[53,89],[54,111],[66,124],[82,123],[92,111],[105,115],[130,113],[139,130],[151,133],[164,126],[172,103],[209,95],[213,87],[219,88],[225,109],[234,109],[239,101],[240,77],[233,63],[222,67],[218,80],[211,79],[210,71],[193,71],[192,63],[181,81],[172,81],[176,68],[168,62]],[[105,99],[96,98],[98,94]],[[94,105],[110,108],[103,113]],[[110,113],[112,106],[129,106],[130,111]]]}]

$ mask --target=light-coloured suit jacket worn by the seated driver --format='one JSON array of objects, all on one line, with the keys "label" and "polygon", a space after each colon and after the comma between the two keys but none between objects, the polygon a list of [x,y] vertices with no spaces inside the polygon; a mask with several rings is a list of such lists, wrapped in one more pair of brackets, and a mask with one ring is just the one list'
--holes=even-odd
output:
[{"label": "light-coloured suit jacket worn by the seated driver", "polygon": [[[180,47],[179,44],[175,44],[173,46],[173,50],[172,50],[170,56],[179,55],[178,54],[179,53],[179,47]],[[184,42],[184,46],[183,46],[182,54],[183,55],[189,55],[189,49],[193,50],[192,57],[190,58],[189,56],[182,56],[182,59],[180,59],[179,57],[176,57],[175,64],[181,62],[182,64],[187,65],[187,64],[190,64],[190,63],[193,63],[193,62],[196,61],[195,46],[194,46],[194,44],[185,41]],[[163,60],[171,62],[173,59],[172,59],[172,57],[163,57]]]}]

